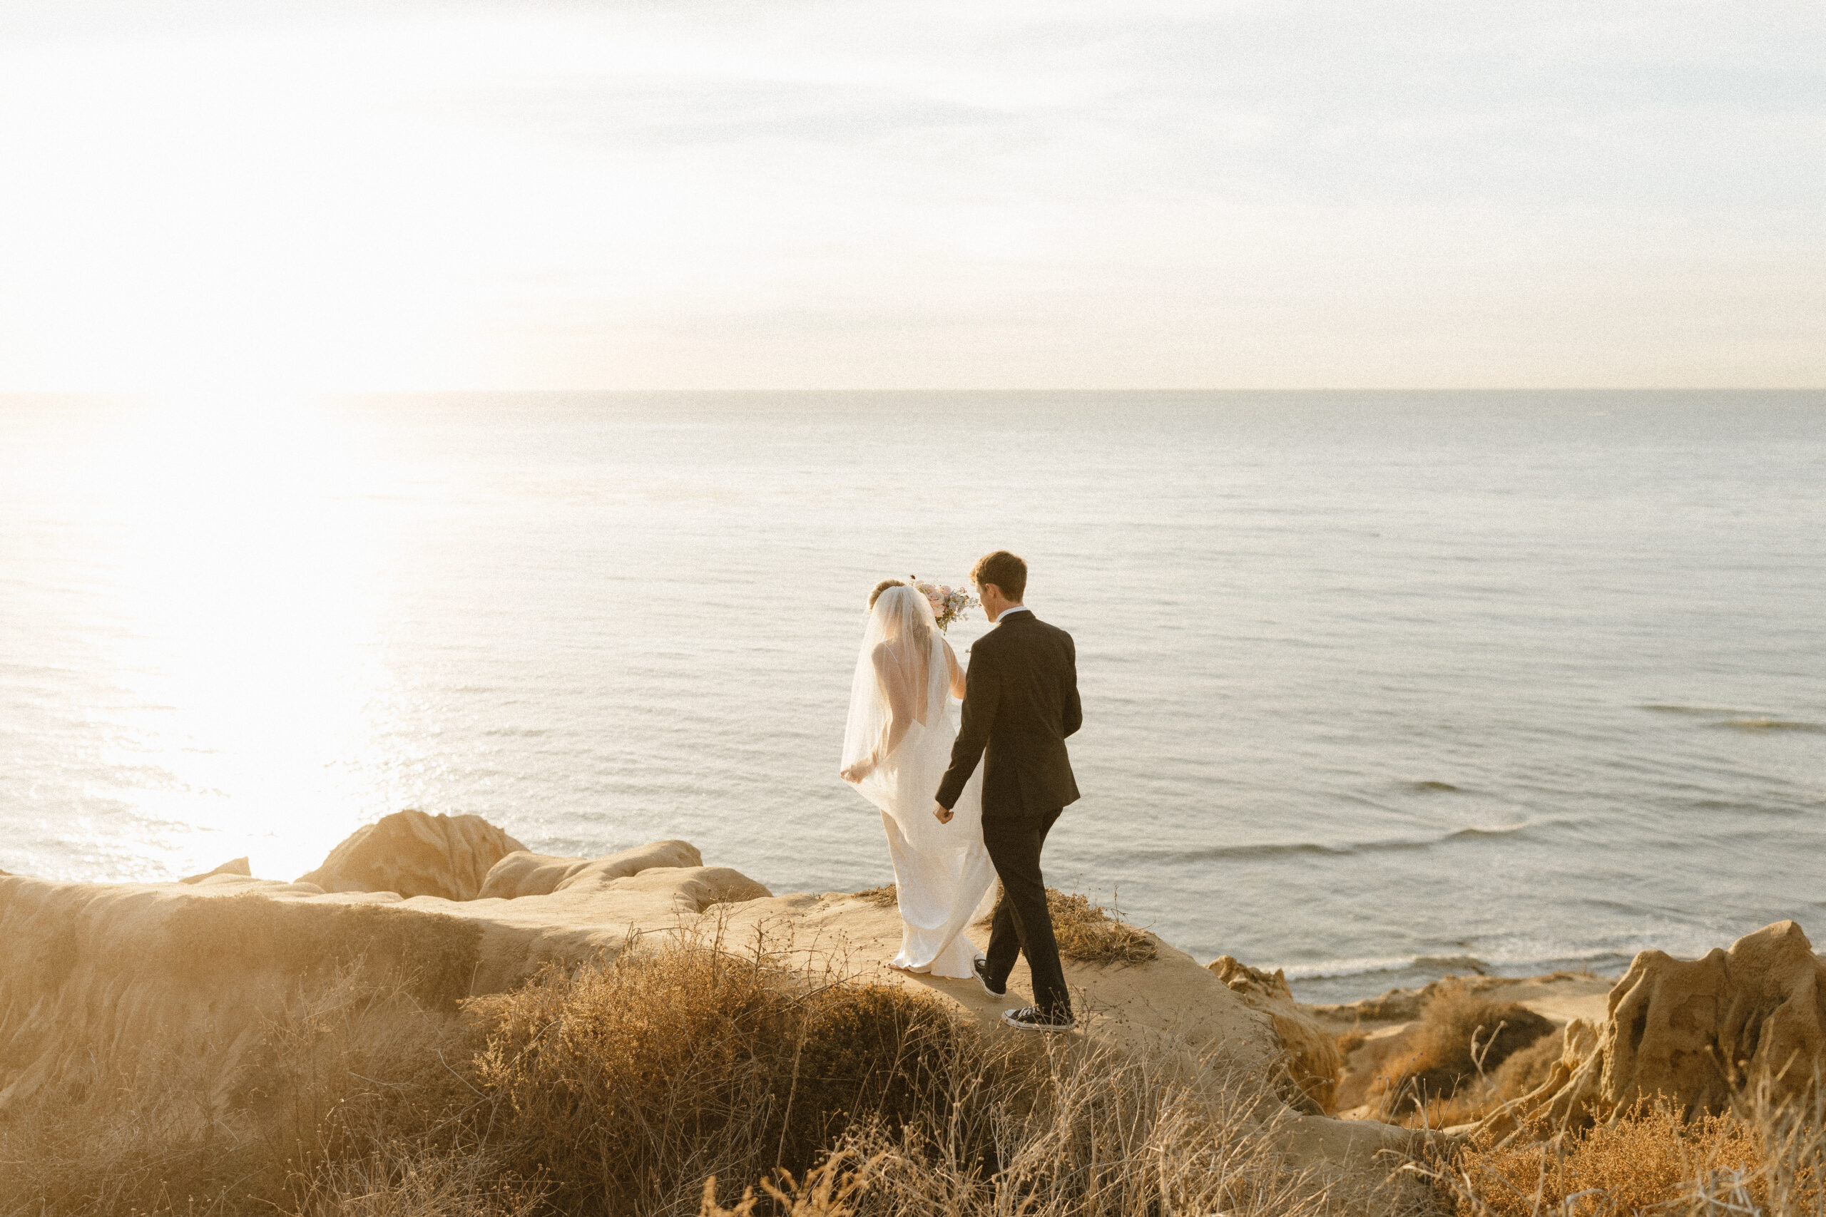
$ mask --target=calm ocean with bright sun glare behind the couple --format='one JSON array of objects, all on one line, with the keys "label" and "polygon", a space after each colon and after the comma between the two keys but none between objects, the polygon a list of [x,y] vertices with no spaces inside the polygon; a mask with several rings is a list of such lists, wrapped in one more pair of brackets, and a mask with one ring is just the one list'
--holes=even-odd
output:
[{"label": "calm ocean with bright sun glare behind the couple", "polygon": [[0,869],[416,806],[873,887],[867,589],[995,547],[1077,639],[1048,881],[1200,960],[1826,934],[1826,392],[0,398]]}]

